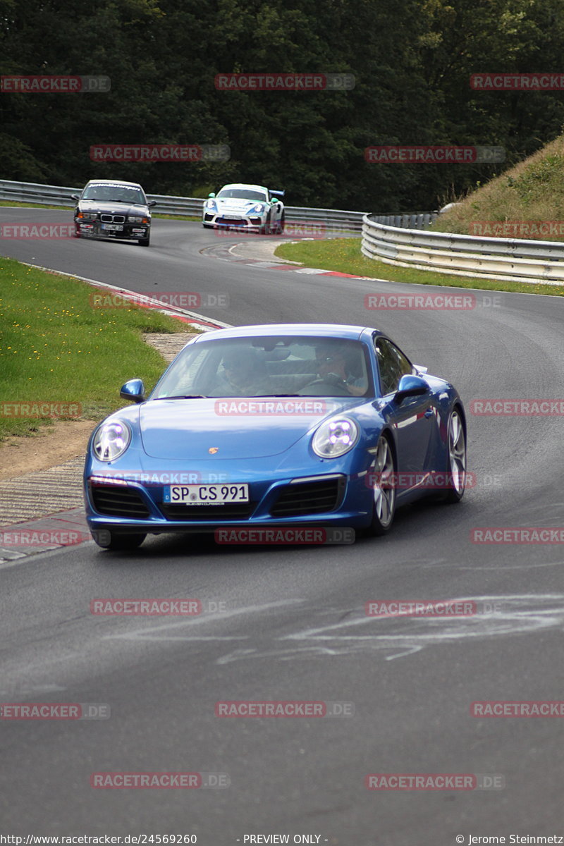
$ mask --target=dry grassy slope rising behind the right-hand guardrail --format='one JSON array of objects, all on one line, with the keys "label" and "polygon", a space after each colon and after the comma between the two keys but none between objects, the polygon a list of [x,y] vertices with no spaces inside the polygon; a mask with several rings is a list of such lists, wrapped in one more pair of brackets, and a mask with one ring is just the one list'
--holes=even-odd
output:
[{"label": "dry grassy slope rising behind the right-hand guardrail", "polygon": [[[507,222],[505,238],[564,240],[564,135],[519,162],[460,200],[460,205],[441,214],[432,229],[466,235],[497,234],[484,222]],[[558,222],[558,230],[534,233],[521,222]]]}]

